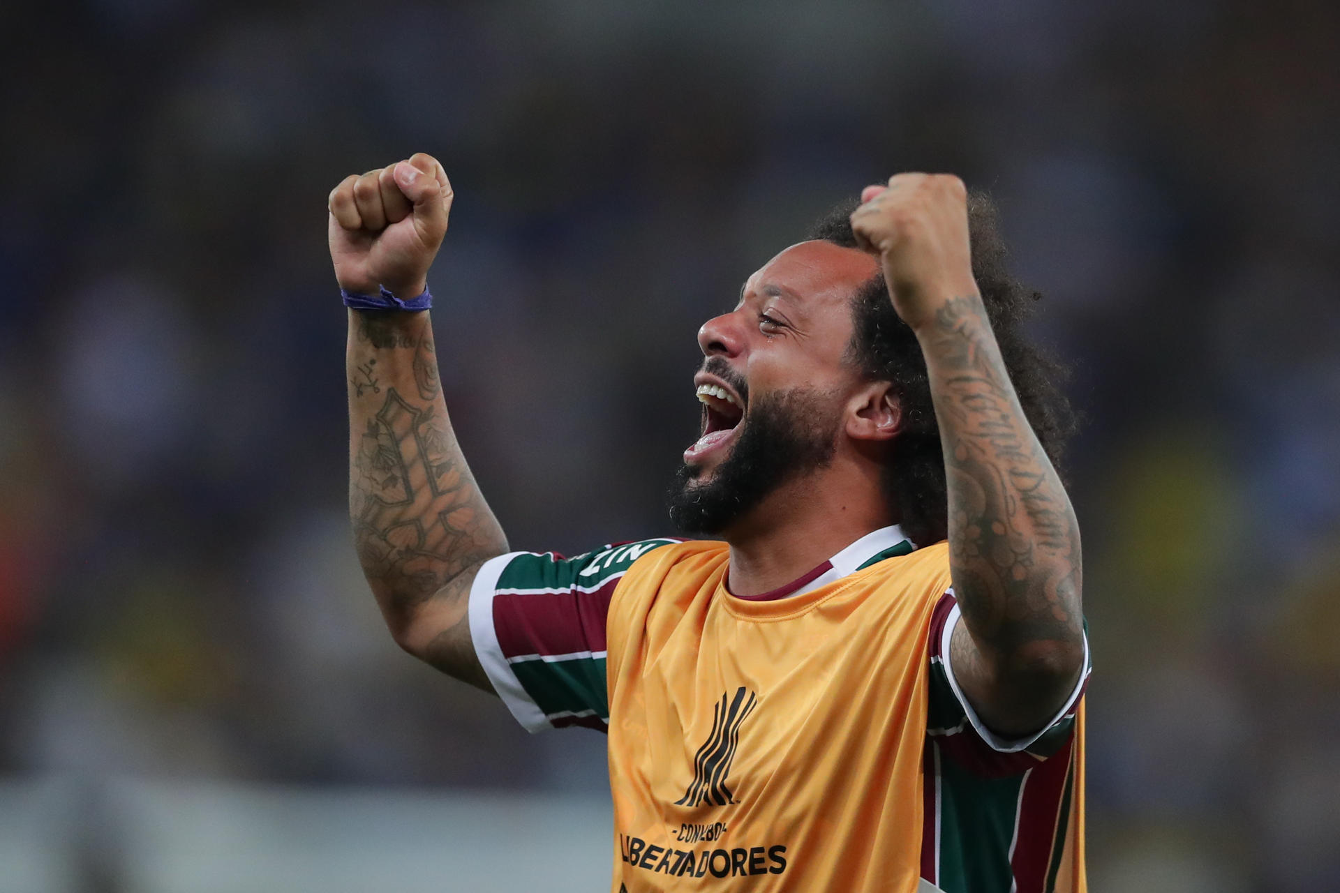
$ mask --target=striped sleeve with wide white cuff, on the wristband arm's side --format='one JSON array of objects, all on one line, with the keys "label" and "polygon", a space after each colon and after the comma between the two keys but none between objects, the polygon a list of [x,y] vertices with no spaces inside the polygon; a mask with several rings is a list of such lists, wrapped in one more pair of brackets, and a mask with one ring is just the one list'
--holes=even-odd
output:
[{"label": "striped sleeve with wide white cuff, on the wristband arm's side", "polygon": [[607,545],[575,558],[513,552],[470,586],[470,637],[493,689],[527,730],[604,731],[606,615],[632,562],[678,540]]}]

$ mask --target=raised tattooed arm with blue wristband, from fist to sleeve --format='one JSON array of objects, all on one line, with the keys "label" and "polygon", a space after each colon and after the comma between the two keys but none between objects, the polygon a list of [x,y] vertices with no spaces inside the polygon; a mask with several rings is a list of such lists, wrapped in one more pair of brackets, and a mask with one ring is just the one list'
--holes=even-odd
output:
[{"label": "raised tattooed arm with blue wristband, from fist to sleeve", "polygon": [[[426,289],[452,185],[418,154],[330,195],[330,249],[346,292]],[[508,550],[452,431],[427,311],[348,311],[348,507],[363,573],[395,641],[493,691],[466,613],[480,565]]]}]

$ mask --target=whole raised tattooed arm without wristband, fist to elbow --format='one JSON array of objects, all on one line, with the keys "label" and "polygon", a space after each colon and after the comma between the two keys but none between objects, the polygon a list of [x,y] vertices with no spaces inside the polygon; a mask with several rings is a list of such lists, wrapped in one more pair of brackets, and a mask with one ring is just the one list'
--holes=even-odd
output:
[{"label": "whole raised tattooed arm without wristband, fist to elbow", "polygon": [[899,174],[852,214],[917,333],[945,454],[949,553],[962,623],[950,660],[963,695],[1002,736],[1029,735],[1083,672],[1080,533],[1029,426],[972,273],[962,181]]}]

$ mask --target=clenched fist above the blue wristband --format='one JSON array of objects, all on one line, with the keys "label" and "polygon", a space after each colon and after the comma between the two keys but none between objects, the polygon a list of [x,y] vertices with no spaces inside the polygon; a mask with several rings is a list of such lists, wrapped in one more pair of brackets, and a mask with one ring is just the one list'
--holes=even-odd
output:
[{"label": "clenched fist above the blue wristband", "polygon": [[382,287],[401,299],[422,293],[450,210],[452,183],[423,153],[346,177],[331,191],[327,226],[339,287],[360,295]]}]

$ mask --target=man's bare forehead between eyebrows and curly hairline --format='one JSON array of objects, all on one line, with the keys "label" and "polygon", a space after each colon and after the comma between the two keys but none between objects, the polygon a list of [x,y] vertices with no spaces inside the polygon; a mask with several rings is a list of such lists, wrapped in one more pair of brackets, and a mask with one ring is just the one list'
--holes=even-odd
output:
[{"label": "man's bare forehead between eyebrows and curly hairline", "polygon": [[874,257],[825,241],[800,242],[764,264],[745,281],[744,293],[780,293],[805,316],[840,309],[850,316],[850,299],[879,270]]}]

